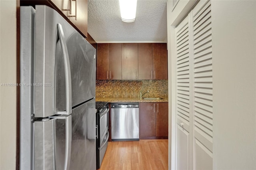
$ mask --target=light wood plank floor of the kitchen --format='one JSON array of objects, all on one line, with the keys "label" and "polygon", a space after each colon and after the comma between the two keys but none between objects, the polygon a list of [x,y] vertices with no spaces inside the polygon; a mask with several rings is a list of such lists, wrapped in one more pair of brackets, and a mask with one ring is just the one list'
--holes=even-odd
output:
[{"label": "light wood plank floor of the kitchen", "polygon": [[108,142],[99,170],[168,170],[168,140]]}]

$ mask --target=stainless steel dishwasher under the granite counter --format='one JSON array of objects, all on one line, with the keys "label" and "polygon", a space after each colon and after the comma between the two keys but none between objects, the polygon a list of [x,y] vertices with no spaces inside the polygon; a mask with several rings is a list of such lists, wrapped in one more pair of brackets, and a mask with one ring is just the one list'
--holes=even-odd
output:
[{"label": "stainless steel dishwasher under the granite counter", "polygon": [[111,138],[139,140],[139,103],[111,104]]}]

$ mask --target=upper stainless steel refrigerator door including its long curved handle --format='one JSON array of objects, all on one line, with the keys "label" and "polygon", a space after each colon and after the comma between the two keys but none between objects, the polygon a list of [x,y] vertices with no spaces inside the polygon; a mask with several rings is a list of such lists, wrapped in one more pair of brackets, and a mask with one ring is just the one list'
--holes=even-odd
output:
[{"label": "upper stainless steel refrigerator door including its long curved handle", "polygon": [[95,97],[96,49],[48,6],[36,6],[35,23],[35,117],[70,114]]}]

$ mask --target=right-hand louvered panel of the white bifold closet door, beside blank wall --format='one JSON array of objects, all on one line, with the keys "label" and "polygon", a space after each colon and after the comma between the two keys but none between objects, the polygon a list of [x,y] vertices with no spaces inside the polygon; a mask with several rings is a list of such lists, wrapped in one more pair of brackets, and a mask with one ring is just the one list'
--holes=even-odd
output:
[{"label": "right-hand louvered panel of the white bifold closet door, beside blank wall", "polygon": [[194,36],[194,169],[212,169],[212,25],[211,2],[192,11]]}]

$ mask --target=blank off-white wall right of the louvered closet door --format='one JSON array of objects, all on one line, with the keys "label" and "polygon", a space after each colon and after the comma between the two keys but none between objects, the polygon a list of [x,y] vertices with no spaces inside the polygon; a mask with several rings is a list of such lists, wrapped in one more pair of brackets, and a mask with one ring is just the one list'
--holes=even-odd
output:
[{"label": "blank off-white wall right of the louvered closet door", "polygon": [[256,1],[212,1],[213,168],[256,168]]}]

